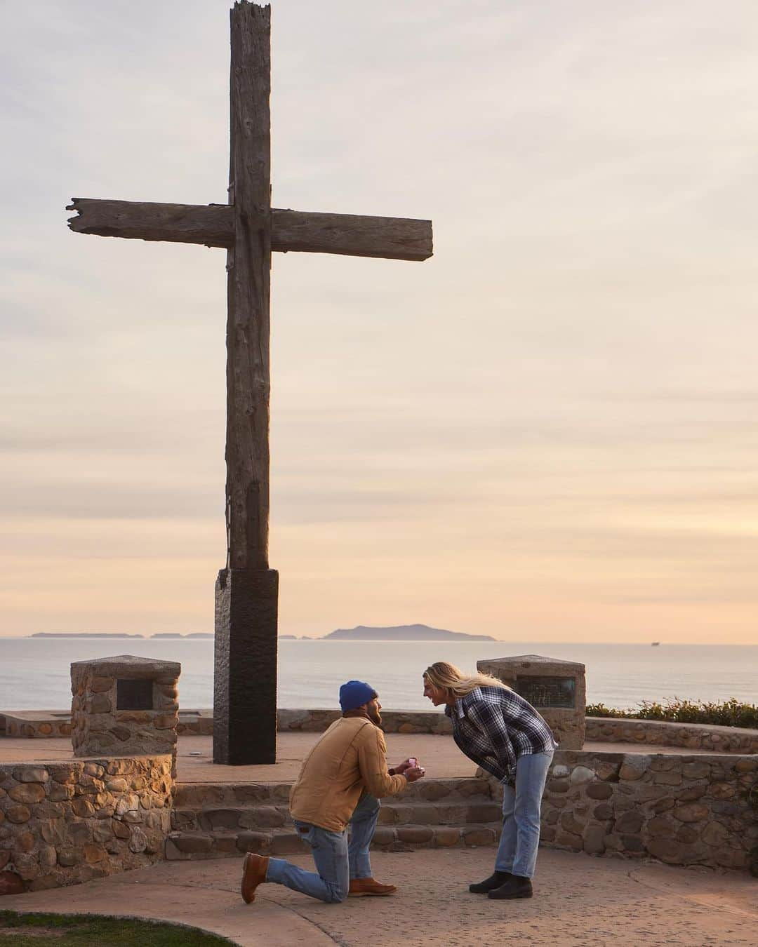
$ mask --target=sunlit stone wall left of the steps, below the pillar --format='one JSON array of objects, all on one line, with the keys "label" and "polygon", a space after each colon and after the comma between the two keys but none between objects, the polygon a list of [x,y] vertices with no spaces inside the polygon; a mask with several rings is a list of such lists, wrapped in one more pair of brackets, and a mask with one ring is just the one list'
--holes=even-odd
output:
[{"label": "sunlit stone wall left of the steps, below the pillar", "polygon": [[0,764],[0,870],[36,891],[150,865],[172,790],[171,754]]}]

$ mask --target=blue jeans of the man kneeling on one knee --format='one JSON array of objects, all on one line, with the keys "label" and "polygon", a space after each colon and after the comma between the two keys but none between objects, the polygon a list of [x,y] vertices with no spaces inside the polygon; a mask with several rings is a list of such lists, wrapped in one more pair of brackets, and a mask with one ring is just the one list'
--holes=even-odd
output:
[{"label": "blue jeans of the man kneeling on one knee", "polygon": [[371,877],[369,846],[378,818],[379,800],[364,794],[352,813],[350,841],[347,829],[329,831],[295,819],[298,835],[311,847],[316,871],[290,865],[283,858],[270,858],[266,881],[284,884],[320,901],[344,901],[353,878]]}]

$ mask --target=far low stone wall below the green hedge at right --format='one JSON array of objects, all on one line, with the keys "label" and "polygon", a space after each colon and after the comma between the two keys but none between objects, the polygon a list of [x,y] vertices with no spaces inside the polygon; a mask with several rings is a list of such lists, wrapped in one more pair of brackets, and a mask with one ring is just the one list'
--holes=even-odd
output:
[{"label": "far low stone wall below the green hedge at right", "polygon": [[713,724],[669,724],[659,720],[587,717],[587,740],[682,746],[713,753],[758,753],[758,730]]}]

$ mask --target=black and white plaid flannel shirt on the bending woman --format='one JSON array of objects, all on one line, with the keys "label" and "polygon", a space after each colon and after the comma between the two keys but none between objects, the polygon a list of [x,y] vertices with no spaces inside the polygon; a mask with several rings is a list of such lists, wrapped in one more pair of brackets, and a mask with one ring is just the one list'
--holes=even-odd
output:
[{"label": "black and white plaid flannel shirt on the bending woman", "polygon": [[501,781],[514,778],[519,757],[551,753],[558,745],[548,724],[514,690],[476,688],[444,712],[460,750]]}]

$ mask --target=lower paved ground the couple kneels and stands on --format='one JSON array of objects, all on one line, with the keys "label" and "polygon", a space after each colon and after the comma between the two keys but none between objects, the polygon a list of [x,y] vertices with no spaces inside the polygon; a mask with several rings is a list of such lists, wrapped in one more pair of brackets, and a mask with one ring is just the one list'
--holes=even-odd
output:
[{"label": "lower paved ground the couple kneels and stands on", "polygon": [[[668,867],[543,850],[531,901],[468,893],[493,866],[492,849],[376,852],[392,898],[323,904],[278,884],[239,895],[242,859],[162,862],[87,884],[2,899],[23,911],[117,914],[179,921],[251,947],[501,947],[681,945],[756,947],[758,882],[742,873]],[[304,856],[298,865],[311,866]]]}]

